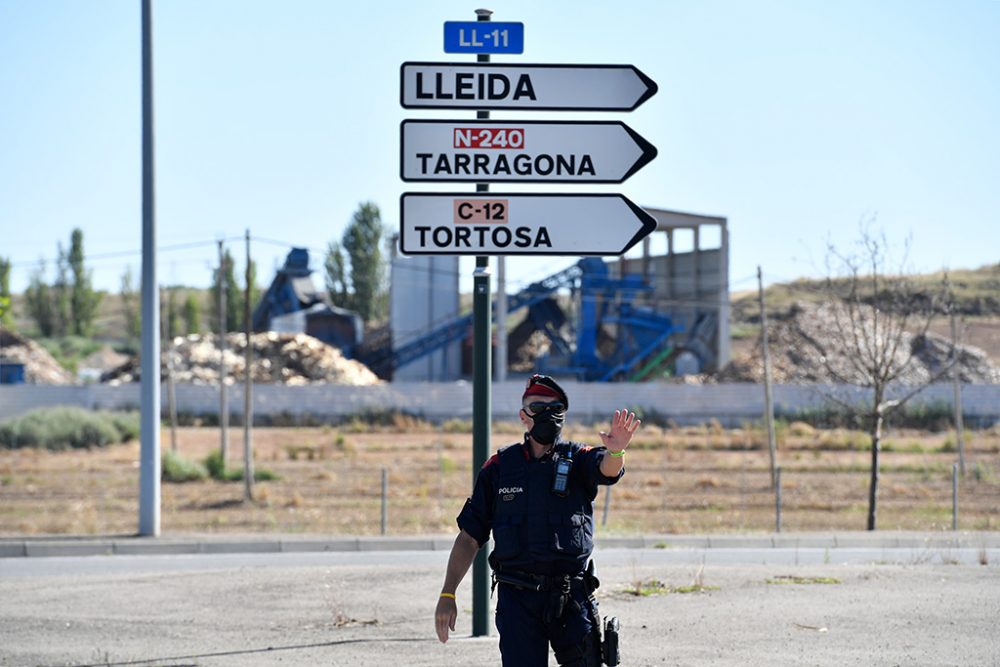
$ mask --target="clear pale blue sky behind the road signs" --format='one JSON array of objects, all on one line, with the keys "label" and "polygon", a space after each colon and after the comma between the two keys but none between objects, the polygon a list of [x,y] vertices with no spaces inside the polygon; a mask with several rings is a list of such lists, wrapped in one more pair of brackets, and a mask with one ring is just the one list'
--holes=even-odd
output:
[{"label": "clear pale blue sky behind the road signs", "polygon": [[[202,244],[162,253],[161,282],[207,285],[214,242],[246,228],[321,249],[365,200],[397,226],[400,193],[434,189],[399,180],[399,122],[472,116],[401,109],[399,65],[471,59],[442,52],[442,23],[477,6],[155,3],[158,244]],[[769,281],[822,275],[826,242],[872,215],[912,236],[917,270],[1000,260],[998,2],[485,6],[525,24],[524,55],[496,62],[630,63],[659,84],[629,114],[494,117],[626,121],[653,163],[622,185],[551,189],[726,216],[734,289],[757,264]],[[15,291],[77,226],[99,288],[139,273],[139,7],[0,0],[0,256]],[[285,252],[254,244],[261,282]],[[510,259],[510,279],[571,261]]]}]

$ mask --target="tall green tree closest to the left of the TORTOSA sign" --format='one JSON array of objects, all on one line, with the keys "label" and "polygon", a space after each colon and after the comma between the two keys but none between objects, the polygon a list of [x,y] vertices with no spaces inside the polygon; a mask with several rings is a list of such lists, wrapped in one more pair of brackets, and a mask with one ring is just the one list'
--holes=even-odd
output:
[{"label": "tall green tree closest to the left of the TORTOSA sign", "polygon": [[365,202],[358,207],[344,232],[344,250],[351,261],[354,309],[365,321],[385,315],[383,233],[382,216],[373,202]]}]

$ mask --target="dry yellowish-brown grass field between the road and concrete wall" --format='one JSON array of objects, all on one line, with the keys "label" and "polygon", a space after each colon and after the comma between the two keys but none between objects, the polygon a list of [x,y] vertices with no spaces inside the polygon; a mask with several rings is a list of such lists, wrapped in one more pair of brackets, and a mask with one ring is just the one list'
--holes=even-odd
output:
[{"label": "dry yellowish-brown grass field between the road and concrete wall", "polygon": [[[520,438],[497,423],[494,449]],[[257,428],[258,482],[243,502],[240,482],[164,482],[164,534],[380,532],[382,469],[388,471],[389,534],[449,533],[471,486],[468,423],[441,427],[399,418],[391,427]],[[597,442],[594,427],[568,436]],[[242,431],[230,431],[231,467],[240,467]],[[644,426],[625,479],[596,501],[598,533],[763,532],[774,528],[766,439],[759,427]],[[182,428],[178,452],[202,460],[219,432]],[[164,450],[170,437],[164,431]],[[856,431],[793,423],[779,433],[783,526],[787,531],[863,530],[870,454]],[[967,433],[968,472],[960,483],[959,527],[1000,529],[1000,427]],[[136,442],[106,449],[0,450],[0,535],[131,534],[138,517]],[[882,455],[879,528],[951,527],[950,433],[891,431]]]}]

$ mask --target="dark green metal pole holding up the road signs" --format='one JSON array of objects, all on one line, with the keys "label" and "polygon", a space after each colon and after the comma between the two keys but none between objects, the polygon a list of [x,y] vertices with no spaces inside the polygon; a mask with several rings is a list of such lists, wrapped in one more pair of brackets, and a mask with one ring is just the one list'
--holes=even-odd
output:
[{"label": "dark green metal pole holding up the road signs", "polygon": [[[477,21],[489,21],[493,12],[477,9]],[[477,62],[488,63],[488,53],[476,56]],[[477,111],[479,120],[489,119],[489,111]],[[476,183],[476,192],[489,192],[488,183]],[[479,470],[486,463],[490,449],[491,429],[491,356],[490,330],[490,258],[476,257],[476,270],[472,274],[472,475],[473,484]],[[485,637],[490,634],[489,615],[489,547],[480,549],[472,564],[472,636]]]}]

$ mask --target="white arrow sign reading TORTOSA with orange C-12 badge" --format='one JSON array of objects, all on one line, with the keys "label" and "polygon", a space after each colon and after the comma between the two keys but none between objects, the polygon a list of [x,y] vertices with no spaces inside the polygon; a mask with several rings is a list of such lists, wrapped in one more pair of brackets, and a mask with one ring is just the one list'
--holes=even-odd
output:
[{"label": "white arrow sign reading TORTOSA with orange C-12 badge", "polygon": [[620,255],[656,219],[618,194],[406,192],[409,255]]}]

